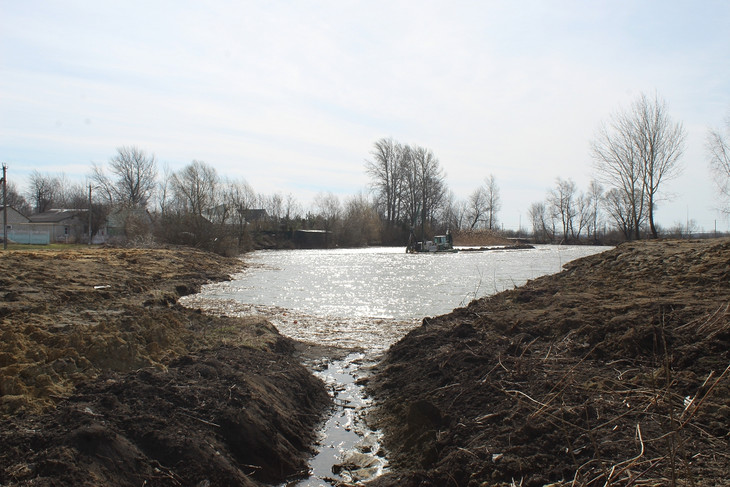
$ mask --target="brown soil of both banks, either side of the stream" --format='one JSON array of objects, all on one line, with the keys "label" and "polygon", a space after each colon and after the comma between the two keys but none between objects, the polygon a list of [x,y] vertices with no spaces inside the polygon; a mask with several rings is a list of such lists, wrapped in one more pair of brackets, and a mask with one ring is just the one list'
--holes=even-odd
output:
[{"label": "brown soil of both banks, either side of the stream", "polygon": [[[326,353],[178,304],[190,249],[0,254],[1,485],[302,475]],[[624,244],[426,318],[367,380],[384,486],[726,485],[730,240]]]}]

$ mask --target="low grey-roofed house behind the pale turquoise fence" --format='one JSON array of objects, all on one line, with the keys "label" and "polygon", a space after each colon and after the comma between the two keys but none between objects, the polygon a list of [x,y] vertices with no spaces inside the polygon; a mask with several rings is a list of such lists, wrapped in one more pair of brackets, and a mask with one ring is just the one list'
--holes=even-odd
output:
[{"label": "low grey-roofed house behind the pale turquoise fence", "polygon": [[[18,243],[79,243],[88,236],[88,210],[55,209],[28,217],[27,240]],[[10,218],[8,218],[9,220]]]}]

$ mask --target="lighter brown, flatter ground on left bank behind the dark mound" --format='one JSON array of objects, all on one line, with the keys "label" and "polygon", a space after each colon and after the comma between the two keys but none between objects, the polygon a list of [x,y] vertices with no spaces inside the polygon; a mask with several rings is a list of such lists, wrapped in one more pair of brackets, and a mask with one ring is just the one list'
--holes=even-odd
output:
[{"label": "lighter brown, flatter ground on left bank behind the dark mound", "polygon": [[198,339],[175,303],[238,261],[194,250],[10,251],[0,258],[0,413],[41,412],[102,370],[164,363]]}]

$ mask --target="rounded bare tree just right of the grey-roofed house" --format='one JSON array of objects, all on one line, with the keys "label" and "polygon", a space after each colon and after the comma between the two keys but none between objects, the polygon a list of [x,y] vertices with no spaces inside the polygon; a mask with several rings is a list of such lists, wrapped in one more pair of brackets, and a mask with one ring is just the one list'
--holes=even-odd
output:
[{"label": "rounded bare tree just right of the grey-roofed house", "polygon": [[117,148],[117,154],[109,160],[109,171],[94,164],[91,178],[102,194],[114,205],[125,208],[147,208],[157,185],[157,162],[154,154],[134,147]]}]

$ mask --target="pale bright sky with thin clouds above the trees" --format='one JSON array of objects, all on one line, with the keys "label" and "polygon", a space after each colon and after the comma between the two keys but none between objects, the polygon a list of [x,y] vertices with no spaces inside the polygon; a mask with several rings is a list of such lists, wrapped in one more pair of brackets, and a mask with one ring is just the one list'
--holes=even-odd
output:
[{"label": "pale bright sky with thin clouds above the trees", "polygon": [[[505,229],[641,94],[686,133],[656,221],[728,231],[705,149],[730,117],[730,1],[0,0],[0,161],[86,181],[120,146],[257,192],[368,190],[392,137],[457,199],[493,174]],[[730,122],[727,122],[730,123]]]}]

